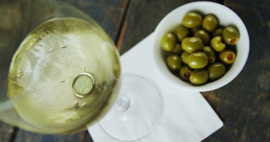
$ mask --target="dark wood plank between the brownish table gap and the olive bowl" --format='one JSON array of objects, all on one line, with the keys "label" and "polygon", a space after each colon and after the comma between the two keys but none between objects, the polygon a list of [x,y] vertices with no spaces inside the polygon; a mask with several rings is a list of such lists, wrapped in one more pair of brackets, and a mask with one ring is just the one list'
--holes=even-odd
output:
[{"label": "dark wood plank between the brownish table gap and the olive bowl", "polygon": [[[131,0],[117,43],[120,54],[154,32],[157,24],[169,12],[190,2],[194,0]],[[212,0],[212,2],[219,1]]]}]

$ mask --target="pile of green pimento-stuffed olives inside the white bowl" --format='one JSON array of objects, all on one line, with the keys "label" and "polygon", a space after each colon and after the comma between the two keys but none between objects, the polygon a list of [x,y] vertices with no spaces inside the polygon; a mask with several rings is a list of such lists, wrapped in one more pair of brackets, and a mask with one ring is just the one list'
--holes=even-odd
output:
[{"label": "pile of green pimento-stuffed olives inside the white bowl", "polygon": [[239,33],[234,27],[217,26],[213,15],[202,18],[198,13],[189,12],[181,26],[162,37],[161,47],[171,53],[167,65],[179,72],[182,80],[204,84],[207,80],[219,79],[226,72],[225,65],[234,62],[236,55],[228,45],[238,42]]}]

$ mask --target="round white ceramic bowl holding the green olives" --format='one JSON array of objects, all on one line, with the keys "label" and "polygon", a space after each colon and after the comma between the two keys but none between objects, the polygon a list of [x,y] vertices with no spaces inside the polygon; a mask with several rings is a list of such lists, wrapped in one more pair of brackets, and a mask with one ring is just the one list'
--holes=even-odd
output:
[{"label": "round white ceramic bowl holding the green olives", "polygon": [[[160,41],[165,33],[171,32],[182,23],[184,15],[191,11],[197,11],[203,15],[213,14],[218,19],[218,24],[222,26],[237,27],[240,38],[236,44],[237,55],[231,68],[220,79],[201,86],[195,86],[191,83],[182,81],[179,77],[170,72],[166,65],[166,57],[168,53],[161,48]],[[154,61],[161,74],[166,77],[173,85],[187,90],[193,91],[210,91],[220,88],[232,81],[243,69],[249,52],[248,31],[242,20],[231,9],[224,5],[214,2],[192,2],[180,6],[166,15],[158,24],[154,32]],[[218,57],[217,57],[218,58]]]}]

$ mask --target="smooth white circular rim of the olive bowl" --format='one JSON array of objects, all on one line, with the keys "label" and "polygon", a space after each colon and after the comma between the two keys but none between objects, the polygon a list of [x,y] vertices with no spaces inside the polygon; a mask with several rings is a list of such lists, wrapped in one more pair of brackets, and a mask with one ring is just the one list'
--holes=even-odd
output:
[{"label": "smooth white circular rim of the olive bowl", "polygon": [[[226,84],[230,83],[233,79],[235,79],[235,77],[241,72],[241,70],[244,68],[245,66],[245,63],[247,62],[247,59],[248,59],[248,54],[249,54],[249,48],[250,48],[250,42],[249,42],[249,35],[248,35],[248,31],[247,31],[247,27],[245,26],[244,22],[242,21],[242,19],[233,11],[231,10],[230,8],[224,6],[224,5],[221,5],[219,3],[215,3],[215,2],[205,2],[205,1],[198,1],[198,2],[191,2],[191,3],[187,3],[187,4],[184,4],[174,10],[172,10],[170,13],[168,13],[165,17],[163,17],[163,19],[158,23],[155,31],[154,31],[154,40],[153,42],[156,41],[157,39],[157,36],[158,36],[158,31],[160,31],[160,29],[162,28],[162,24],[164,23],[164,21],[167,21],[167,18],[171,15],[171,14],[174,14],[175,12],[177,12],[178,10],[181,11],[181,8],[183,7],[187,7],[187,6],[191,6],[191,5],[205,5],[205,4],[208,4],[208,5],[212,5],[212,6],[218,6],[220,8],[223,8],[225,9],[226,11],[230,12],[231,15],[233,15],[234,17],[236,17],[238,20],[239,20],[239,24],[244,26],[243,29],[242,29],[242,32],[244,33],[244,37],[246,38],[246,42],[247,42],[247,48],[243,53],[244,56],[242,56],[241,58],[243,58],[243,61],[239,63],[238,65],[238,68],[235,70],[235,72],[232,74],[232,76],[230,77],[227,77],[226,79],[223,79],[224,81],[222,81],[222,83],[219,83],[219,84],[214,84],[213,86],[207,86],[207,83],[202,85],[202,86],[184,86],[184,85],[181,85],[181,84],[178,84],[172,80],[170,80],[163,72],[162,70],[159,68],[159,65],[158,65],[158,62],[157,62],[157,54],[156,52],[158,52],[155,47],[153,48],[154,51],[154,64],[156,66],[156,68],[158,68],[158,72],[166,78],[166,80],[168,80],[171,84],[173,84],[174,86],[178,87],[178,88],[181,88],[181,89],[185,89],[185,90],[191,90],[191,91],[200,91],[200,92],[204,92],[204,91],[211,91],[211,90],[215,90],[215,89],[218,89],[220,87],[223,87],[225,86]],[[155,43],[153,44],[153,46],[155,46]],[[219,79],[218,79],[219,80]],[[217,81],[217,80],[216,80]],[[215,82],[215,81],[213,81]]]}]

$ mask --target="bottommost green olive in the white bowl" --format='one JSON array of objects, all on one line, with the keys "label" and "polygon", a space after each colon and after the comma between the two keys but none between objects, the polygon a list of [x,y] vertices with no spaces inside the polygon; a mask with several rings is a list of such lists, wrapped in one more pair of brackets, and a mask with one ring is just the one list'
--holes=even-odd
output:
[{"label": "bottommost green olive in the white bowl", "polygon": [[195,69],[190,75],[190,82],[196,85],[204,84],[209,78],[206,69]]}]

